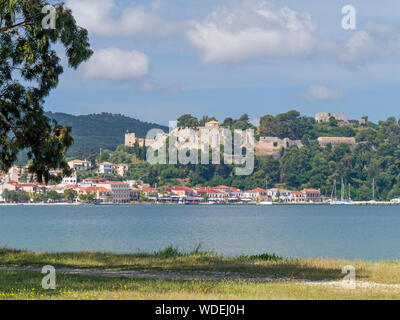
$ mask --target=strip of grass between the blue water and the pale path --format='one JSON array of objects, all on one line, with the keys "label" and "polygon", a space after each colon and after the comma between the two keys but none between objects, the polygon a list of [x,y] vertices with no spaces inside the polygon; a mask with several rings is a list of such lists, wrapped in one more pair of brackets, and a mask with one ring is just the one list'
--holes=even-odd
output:
[{"label": "strip of grass between the blue water and the pale path", "polygon": [[149,269],[174,271],[222,271],[259,274],[290,279],[341,280],[342,267],[356,268],[357,280],[400,284],[399,261],[345,261],[333,259],[282,259],[271,255],[219,257],[212,252],[194,250],[182,254],[168,247],[153,254],[119,255],[112,253],[31,253],[1,249],[0,265],[79,268]]}]

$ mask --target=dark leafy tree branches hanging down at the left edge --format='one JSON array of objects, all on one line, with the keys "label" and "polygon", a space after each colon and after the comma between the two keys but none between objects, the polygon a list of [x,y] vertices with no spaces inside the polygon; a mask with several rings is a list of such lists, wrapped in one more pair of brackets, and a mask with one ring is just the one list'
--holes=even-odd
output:
[{"label": "dark leafy tree branches hanging down at the left edge", "polygon": [[51,168],[70,174],[65,154],[73,143],[71,128],[44,115],[45,97],[63,73],[55,50],[61,44],[70,67],[92,55],[85,29],[69,9],[57,4],[56,28],[43,29],[45,0],[0,2],[0,170],[7,171],[20,150],[32,160],[30,173],[49,181]]}]

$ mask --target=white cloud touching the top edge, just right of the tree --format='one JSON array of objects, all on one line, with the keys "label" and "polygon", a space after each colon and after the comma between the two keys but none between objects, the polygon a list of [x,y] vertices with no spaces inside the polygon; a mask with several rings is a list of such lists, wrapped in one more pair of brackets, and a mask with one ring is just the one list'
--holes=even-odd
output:
[{"label": "white cloud touching the top edge, just right of the tree", "polygon": [[115,0],[68,0],[78,24],[100,36],[165,36],[179,30],[178,23],[161,18],[157,5],[122,8]]}]

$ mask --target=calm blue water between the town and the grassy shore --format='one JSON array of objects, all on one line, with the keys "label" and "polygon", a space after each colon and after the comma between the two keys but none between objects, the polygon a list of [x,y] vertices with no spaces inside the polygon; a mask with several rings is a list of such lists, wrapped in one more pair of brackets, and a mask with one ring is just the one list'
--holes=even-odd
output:
[{"label": "calm blue water between the town and the grassy shore", "polygon": [[234,256],[400,258],[398,206],[0,206],[0,246]]}]

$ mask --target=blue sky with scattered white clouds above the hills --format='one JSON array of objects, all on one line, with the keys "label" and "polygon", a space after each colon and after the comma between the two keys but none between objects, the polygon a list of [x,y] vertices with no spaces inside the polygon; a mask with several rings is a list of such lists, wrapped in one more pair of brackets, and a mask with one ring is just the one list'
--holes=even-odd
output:
[{"label": "blue sky with scattered white clouds above the hills", "polygon": [[[94,55],[65,65],[48,111],[164,125],[185,113],[256,121],[293,109],[400,117],[398,0],[65,2]],[[355,29],[343,28],[346,5]]]}]

